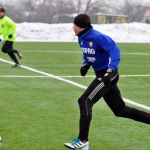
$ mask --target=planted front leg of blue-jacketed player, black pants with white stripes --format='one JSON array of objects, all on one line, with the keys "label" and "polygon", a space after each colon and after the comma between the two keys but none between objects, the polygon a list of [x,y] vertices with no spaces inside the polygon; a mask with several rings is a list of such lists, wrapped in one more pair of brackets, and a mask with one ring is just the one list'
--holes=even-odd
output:
[{"label": "planted front leg of blue-jacketed player, black pants with white stripes", "polygon": [[93,105],[109,90],[102,81],[95,79],[79,98],[80,121],[79,139],[88,141]]}]

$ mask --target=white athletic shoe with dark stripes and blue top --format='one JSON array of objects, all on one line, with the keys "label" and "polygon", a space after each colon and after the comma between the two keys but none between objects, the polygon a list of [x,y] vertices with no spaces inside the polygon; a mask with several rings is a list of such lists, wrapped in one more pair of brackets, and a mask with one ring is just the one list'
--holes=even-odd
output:
[{"label": "white athletic shoe with dark stripes and blue top", "polygon": [[73,140],[72,143],[64,143],[64,146],[74,150],[89,150],[89,142],[83,143],[79,139]]}]

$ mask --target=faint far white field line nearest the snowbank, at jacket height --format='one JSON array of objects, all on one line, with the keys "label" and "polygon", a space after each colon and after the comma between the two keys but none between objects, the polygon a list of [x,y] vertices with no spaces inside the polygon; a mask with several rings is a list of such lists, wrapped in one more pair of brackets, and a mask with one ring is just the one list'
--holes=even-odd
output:
[{"label": "faint far white field line nearest the snowbank, at jacket height", "polygon": [[[54,51],[54,50],[24,50],[23,52],[32,52],[32,53],[76,53],[76,54],[81,54],[81,51]],[[124,53],[124,55],[150,55],[150,53]]]}]

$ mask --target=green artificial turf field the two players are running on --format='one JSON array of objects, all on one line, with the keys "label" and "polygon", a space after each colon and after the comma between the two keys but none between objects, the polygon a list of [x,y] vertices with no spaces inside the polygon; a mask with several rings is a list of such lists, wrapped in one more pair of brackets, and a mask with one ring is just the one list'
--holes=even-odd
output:
[{"label": "green artificial turf field the two players are running on", "polygon": [[[120,75],[133,75],[120,77],[122,96],[150,106],[150,44],[118,46]],[[82,53],[77,43],[16,43],[15,47],[22,50],[25,66],[57,76],[79,76]],[[3,53],[0,58],[10,60]],[[77,100],[84,89],[10,66],[0,62],[0,150],[65,150],[63,143],[78,135]],[[88,75],[93,75],[92,69]],[[64,78],[85,86],[94,79]],[[101,99],[93,107],[89,139],[90,150],[150,150],[150,126],[115,117]]]}]

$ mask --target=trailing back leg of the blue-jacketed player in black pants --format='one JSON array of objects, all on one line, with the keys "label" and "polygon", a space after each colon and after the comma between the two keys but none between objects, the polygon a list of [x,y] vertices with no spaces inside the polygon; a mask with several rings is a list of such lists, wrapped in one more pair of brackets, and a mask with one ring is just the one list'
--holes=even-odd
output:
[{"label": "trailing back leg of the blue-jacketed player in black pants", "polygon": [[104,96],[104,100],[116,116],[150,124],[150,113],[126,106],[117,85]]}]

